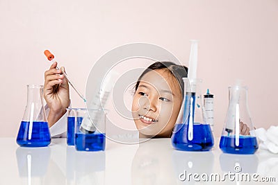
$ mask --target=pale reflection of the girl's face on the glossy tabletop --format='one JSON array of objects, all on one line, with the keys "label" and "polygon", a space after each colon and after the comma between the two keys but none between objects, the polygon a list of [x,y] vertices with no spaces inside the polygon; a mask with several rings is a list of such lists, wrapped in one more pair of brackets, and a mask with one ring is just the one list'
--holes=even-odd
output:
[{"label": "pale reflection of the girl's face on the glossy tabletop", "polygon": [[[173,184],[171,148],[165,148],[163,140],[140,143],[132,161],[131,178],[133,184]],[[170,149],[170,150],[169,150]]]}]

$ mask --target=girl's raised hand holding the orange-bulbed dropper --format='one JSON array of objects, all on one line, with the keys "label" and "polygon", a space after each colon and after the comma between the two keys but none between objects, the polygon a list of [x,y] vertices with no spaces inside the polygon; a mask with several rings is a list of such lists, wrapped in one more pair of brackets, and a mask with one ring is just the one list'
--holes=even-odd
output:
[{"label": "girl's raised hand holding the orange-bulbed dropper", "polygon": [[69,85],[61,70],[56,69],[57,62],[54,62],[50,69],[44,73],[44,99],[49,106],[48,116],[49,127],[54,125],[70,105]]}]

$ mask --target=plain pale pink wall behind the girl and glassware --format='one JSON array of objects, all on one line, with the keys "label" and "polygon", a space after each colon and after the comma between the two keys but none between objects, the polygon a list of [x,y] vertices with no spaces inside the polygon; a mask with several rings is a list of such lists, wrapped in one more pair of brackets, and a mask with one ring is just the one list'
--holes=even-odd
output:
[{"label": "plain pale pink wall behind the girl and glassware", "polygon": [[[16,136],[26,85],[43,84],[53,51],[76,87],[94,62],[131,42],[162,46],[188,64],[189,39],[199,39],[198,77],[215,95],[215,136],[237,78],[249,91],[256,127],[278,125],[278,1],[0,1],[0,136]],[[71,90],[73,107],[83,107]]]}]

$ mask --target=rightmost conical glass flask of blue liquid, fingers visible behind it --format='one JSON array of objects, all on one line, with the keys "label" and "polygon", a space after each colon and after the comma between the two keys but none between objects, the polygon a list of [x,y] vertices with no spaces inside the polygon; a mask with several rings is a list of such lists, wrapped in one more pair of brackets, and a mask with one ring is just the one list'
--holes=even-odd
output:
[{"label": "rightmost conical glass flask of blue liquid, fingers visible behind it", "polygon": [[219,146],[222,152],[231,154],[254,154],[258,149],[247,106],[247,87],[229,87],[229,107]]}]

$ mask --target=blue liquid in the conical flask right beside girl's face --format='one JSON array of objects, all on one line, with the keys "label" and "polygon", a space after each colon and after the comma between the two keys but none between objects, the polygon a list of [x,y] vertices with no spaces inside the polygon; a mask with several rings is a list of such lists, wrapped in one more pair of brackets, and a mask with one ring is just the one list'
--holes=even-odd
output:
[{"label": "blue liquid in the conical flask right beside girl's face", "polygon": [[176,124],[172,135],[172,146],[176,150],[208,151],[213,148],[213,135],[208,124],[193,124],[193,139],[188,139],[188,124]]}]

